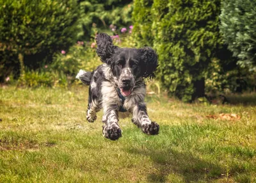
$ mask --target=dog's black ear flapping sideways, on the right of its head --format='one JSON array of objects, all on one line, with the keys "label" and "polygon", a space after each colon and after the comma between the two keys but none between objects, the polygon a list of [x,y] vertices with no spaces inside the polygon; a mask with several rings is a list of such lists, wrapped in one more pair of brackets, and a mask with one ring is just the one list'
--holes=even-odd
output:
[{"label": "dog's black ear flapping sideways, on the right of its head", "polygon": [[151,47],[143,47],[140,49],[142,54],[142,60],[145,61],[145,72],[143,77],[153,79],[155,76],[154,72],[158,67],[157,54]]}]

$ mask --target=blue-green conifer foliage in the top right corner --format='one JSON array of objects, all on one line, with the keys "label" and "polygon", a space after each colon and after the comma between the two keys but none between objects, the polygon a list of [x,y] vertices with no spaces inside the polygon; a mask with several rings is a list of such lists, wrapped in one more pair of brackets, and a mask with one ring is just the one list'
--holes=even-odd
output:
[{"label": "blue-green conifer foliage in the top right corner", "polygon": [[239,65],[256,71],[256,1],[226,0],[221,3],[220,31]]}]

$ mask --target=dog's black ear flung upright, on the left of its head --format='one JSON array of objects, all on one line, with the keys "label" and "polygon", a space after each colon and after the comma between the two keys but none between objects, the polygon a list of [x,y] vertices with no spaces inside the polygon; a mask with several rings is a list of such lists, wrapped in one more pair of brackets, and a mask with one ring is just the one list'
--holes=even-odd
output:
[{"label": "dog's black ear flung upright, on the left of its head", "polygon": [[95,39],[97,43],[97,54],[102,62],[107,63],[107,60],[111,58],[118,47],[113,45],[112,38],[106,33],[99,33]]}]

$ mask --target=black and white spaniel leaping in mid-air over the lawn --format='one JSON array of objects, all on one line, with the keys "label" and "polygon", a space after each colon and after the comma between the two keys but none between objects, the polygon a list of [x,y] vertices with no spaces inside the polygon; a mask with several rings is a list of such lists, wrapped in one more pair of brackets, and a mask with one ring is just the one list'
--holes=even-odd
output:
[{"label": "black and white spaniel leaping in mid-air over the lawn", "polygon": [[80,70],[76,78],[90,85],[86,118],[94,122],[96,113],[103,108],[103,134],[116,140],[122,136],[118,125],[118,111],[132,113],[132,122],[146,134],[158,134],[159,125],[147,115],[144,102],[145,78],[155,77],[157,54],[150,47],[120,48],[113,45],[105,33],[96,37],[97,54],[104,63],[93,72]]}]

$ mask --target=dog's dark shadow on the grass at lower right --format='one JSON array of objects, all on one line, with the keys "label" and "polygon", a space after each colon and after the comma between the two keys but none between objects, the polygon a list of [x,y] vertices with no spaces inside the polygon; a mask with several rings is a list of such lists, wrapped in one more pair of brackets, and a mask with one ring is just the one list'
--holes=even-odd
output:
[{"label": "dog's dark shadow on the grass at lower right", "polygon": [[175,181],[209,181],[221,177],[223,168],[211,162],[195,157],[189,152],[183,153],[169,148],[168,150],[157,150],[147,148],[139,150],[130,149],[129,153],[149,156],[154,162],[154,173],[147,177],[148,182],[170,182]]}]

